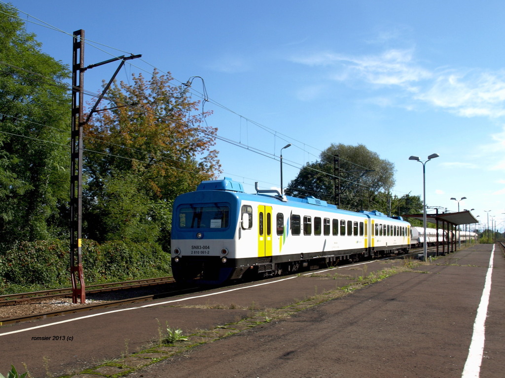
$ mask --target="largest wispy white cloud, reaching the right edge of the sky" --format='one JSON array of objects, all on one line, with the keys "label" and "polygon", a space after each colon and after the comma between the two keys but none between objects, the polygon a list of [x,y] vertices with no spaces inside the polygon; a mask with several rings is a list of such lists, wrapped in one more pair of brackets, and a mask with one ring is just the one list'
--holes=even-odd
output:
[{"label": "largest wispy white cloud, reaching the right edge of the sky", "polygon": [[405,91],[403,101],[408,104],[391,101],[391,106],[415,109],[412,104],[426,103],[462,117],[505,116],[505,71],[430,70],[416,61],[413,48],[361,56],[321,51],[291,61],[325,69],[326,79]]}]

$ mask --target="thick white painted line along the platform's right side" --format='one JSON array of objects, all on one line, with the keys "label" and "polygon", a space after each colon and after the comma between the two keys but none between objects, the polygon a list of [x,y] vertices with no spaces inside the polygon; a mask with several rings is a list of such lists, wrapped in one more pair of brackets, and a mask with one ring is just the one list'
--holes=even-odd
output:
[{"label": "thick white painted line along the platform's right side", "polygon": [[489,294],[491,293],[491,275],[493,272],[494,245],[491,250],[489,267],[487,268],[486,283],[480,298],[477,316],[475,317],[474,332],[472,342],[468,350],[467,362],[463,368],[462,378],[478,378],[480,374],[480,365],[482,364],[482,355],[484,353],[485,323],[487,316],[487,306],[489,304]]}]

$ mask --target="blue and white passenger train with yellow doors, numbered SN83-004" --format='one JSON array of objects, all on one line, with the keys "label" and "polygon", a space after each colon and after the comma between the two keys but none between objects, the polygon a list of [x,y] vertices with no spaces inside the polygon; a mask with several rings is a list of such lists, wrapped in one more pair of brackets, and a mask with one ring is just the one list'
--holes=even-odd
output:
[{"label": "blue and white passenger train with yellow doors, numbered SN83-004", "polygon": [[337,209],[314,197],[246,194],[229,178],[178,196],[172,219],[172,271],[202,283],[406,253],[410,224],[382,213]]}]

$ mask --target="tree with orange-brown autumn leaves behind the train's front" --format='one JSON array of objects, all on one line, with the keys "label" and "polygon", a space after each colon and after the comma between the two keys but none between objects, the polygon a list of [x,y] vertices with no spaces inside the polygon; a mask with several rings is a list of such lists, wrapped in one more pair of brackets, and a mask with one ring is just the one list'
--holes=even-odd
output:
[{"label": "tree with orange-brown autumn leaves behind the train's front", "polygon": [[96,240],[166,240],[172,200],[220,169],[209,112],[171,80],[155,71],[114,85],[113,109],[85,128],[86,232]]}]

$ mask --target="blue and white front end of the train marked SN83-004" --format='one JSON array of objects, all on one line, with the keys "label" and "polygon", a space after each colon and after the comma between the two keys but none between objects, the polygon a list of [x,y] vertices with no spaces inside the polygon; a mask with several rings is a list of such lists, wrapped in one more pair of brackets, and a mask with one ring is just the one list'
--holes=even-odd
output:
[{"label": "blue and white front end of the train marked SN83-004", "polygon": [[221,284],[236,274],[239,182],[203,181],[174,202],[172,273],[177,282]]}]

